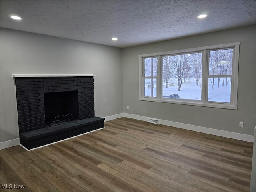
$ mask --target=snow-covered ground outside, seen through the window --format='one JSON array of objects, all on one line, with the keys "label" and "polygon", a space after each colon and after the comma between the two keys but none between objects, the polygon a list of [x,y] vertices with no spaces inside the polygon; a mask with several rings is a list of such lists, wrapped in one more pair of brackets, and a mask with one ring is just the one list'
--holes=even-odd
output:
[{"label": "snow-covered ground outside, seen through the window", "polygon": [[[214,79],[214,89],[212,89],[212,84],[209,82],[208,90],[208,101],[230,102],[231,85],[228,84],[226,86],[226,82],[224,83],[224,87],[220,82],[220,87],[218,88],[218,80],[216,78]],[[171,93],[178,94],[181,99],[201,100],[201,85],[197,86],[196,82],[192,79],[190,84],[182,84],[180,91],[178,91],[178,86],[168,86],[166,88],[164,84],[163,95],[170,95]],[[145,89],[145,95],[151,95],[151,88]],[[153,89],[153,95],[156,96],[156,88]]]}]

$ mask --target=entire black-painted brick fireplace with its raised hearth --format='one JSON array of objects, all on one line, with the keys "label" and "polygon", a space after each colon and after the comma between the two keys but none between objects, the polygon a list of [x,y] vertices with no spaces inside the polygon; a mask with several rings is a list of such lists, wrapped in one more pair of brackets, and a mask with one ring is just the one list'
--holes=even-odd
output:
[{"label": "entire black-painted brick fireplace with its raised hearth", "polygon": [[94,116],[93,76],[13,75],[20,144],[27,149],[104,127]]}]

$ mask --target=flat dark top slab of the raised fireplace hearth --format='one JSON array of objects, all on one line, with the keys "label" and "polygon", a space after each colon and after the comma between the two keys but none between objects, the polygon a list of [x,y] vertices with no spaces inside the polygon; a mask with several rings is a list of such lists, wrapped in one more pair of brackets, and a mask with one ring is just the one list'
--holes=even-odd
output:
[{"label": "flat dark top slab of the raised fireplace hearth", "polygon": [[74,120],[72,122],[66,122],[63,124],[55,125],[55,126],[48,126],[46,128],[24,132],[20,134],[20,137],[26,140],[34,140],[37,138],[42,138],[52,134],[64,132],[67,130],[72,130],[81,126],[87,126],[90,124],[102,122],[104,120],[105,120],[104,118],[100,118],[100,117],[91,117],[91,118],[86,118],[82,120]]}]

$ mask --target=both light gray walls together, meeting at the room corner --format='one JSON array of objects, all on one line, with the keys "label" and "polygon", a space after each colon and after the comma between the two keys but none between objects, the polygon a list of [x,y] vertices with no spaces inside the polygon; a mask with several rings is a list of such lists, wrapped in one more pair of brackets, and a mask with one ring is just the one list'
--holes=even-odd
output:
[{"label": "both light gray walls together, meeting at the room corner", "polygon": [[[256,26],[129,48],[1,28],[1,140],[18,138],[11,74],[95,74],[95,114],[122,112],[253,135],[256,125]],[[238,110],[139,101],[138,55],[241,42]],[[127,110],[126,106],[130,106]],[[244,128],[238,128],[244,122]]]}]

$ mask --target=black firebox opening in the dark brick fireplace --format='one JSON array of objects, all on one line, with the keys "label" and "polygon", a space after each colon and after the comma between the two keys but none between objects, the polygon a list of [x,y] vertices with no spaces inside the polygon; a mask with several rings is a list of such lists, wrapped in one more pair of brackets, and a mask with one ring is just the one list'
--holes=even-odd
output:
[{"label": "black firebox opening in the dark brick fireplace", "polygon": [[78,119],[78,91],[44,93],[46,126]]}]

